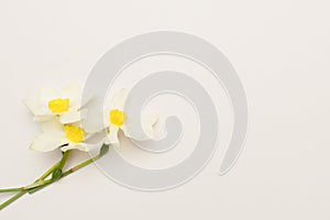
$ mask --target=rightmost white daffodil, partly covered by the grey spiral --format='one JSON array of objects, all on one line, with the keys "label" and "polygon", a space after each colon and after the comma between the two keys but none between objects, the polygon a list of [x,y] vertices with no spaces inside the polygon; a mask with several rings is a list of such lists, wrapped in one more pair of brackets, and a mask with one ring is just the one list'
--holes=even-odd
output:
[{"label": "rightmost white daffodil, partly covered by the grey spiral", "polygon": [[[124,135],[136,141],[146,141],[154,139],[154,128],[157,118],[154,116],[143,116],[141,119],[132,119],[128,116],[128,112],[123,111],[124,103],[128,97],[128,90],[121,89],[111,100],[110,106],[106,108],[103,114],[103,121],[108,133],[109,143],[119,146],[118,132],[122,130]],[[138,123],[141,123],[142,132],[134,132],[134,134],[128,131],[130,129],[140,128]]]}]

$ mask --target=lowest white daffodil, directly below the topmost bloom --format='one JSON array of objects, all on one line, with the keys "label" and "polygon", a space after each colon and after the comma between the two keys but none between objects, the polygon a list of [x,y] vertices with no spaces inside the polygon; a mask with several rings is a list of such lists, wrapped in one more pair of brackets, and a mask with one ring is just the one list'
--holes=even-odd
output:
[{"label": "lowest white daffodil, directly below the topmost bloom", "polygon": [[42,130],[43,133],[37,135],[30,145],[33,151],[50,152],[59,147],[63,152],[75,148],[88,152],[100,145],[100,143],[86,143],[92,134],[87,134],[77,123],[62,124],[58,120],[53,119],[43,122]]}]

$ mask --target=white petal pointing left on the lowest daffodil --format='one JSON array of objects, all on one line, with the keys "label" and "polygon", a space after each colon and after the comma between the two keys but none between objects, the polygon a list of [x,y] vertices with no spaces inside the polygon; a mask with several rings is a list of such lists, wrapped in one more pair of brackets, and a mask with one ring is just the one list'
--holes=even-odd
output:
[{"label": "white petal pointing left on the lowest daffodil", "polygon": [[36,152],[50,152],[66,143],[66,139],[57,139],[53,135],[42,133],[34,139],[30,148]]}]

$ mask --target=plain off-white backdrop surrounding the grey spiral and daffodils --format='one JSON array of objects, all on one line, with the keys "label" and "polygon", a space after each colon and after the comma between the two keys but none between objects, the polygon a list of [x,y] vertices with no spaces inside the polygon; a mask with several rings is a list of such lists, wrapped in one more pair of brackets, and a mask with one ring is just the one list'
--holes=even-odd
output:
[{"label": "plain off-white backdrop surrounding the grey spiral and daffodils", "polygon": [[250,131],[223,177],[223,151],[195,179],[162,193],[124,188],[89,166],[0,218],[328,220],[329,10],[327,0],[1,0],[1,188],[31,183],[59,158],[28,150],[38,129],[21,99],[40,86],[84,81],[111,46],[150,31],[187,32],[219,47],[245,87]]}]

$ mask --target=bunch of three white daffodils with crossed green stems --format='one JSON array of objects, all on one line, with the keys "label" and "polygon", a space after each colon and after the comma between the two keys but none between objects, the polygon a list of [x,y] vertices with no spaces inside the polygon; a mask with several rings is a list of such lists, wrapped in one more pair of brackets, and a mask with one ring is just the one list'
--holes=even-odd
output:
[{"label": "bunch of three white daffodils with crossed green stems", "polygon": [[[87,116],[87,103],[81,103],[81,89],[78,85],[72,84],[61,90],[41,88],[38,99],[25,99],[24,103],[33,114],[33,120],[41,123],[42,133],[32,141],[30,148],[36,152],[62,151],[62,158],[46,170],[40,178],[30,185],[19,188],[0,189],[0,193],[14,193],[15,195],[0,205],[0,210],[11,205],[26,194],[34,194],[51,184],[81,169],[82,167],[101,158],[109,151],[110,146],[119,146],[118,132],[134,140],[140,136],[132,136],[127,131],[127,123],[132,119],[123,112],[123,105],[127,98],[127,89],[121,89],[112,99],[109,107],[103,111],[105,127],[98,133],[107,135],[99,143],[89,143],[88,140],[96,133],[87,133],[81,127],[81,120]],[[136,121],[136,120],[135,120]],[[153,125],[156,118],[145,116],[141,118],[141,125],[147,138],[154,138]],[[143,139],[145,139],[143,136]],[[65,165],[73,151],[89,152],[98,150],[99,153],[72,167],[65,169]]]}]

